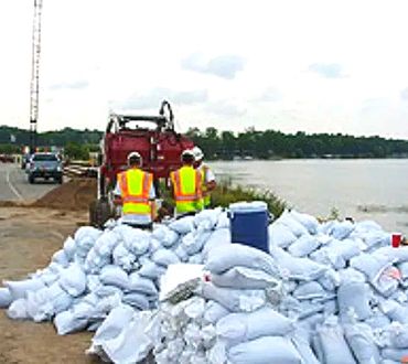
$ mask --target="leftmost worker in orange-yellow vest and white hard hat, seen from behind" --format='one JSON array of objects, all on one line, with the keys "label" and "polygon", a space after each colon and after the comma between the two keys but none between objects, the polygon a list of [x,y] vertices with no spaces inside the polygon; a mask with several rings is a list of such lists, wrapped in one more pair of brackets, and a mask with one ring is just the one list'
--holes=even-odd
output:
[{"label": "leftmost worker in orange-yellow vest and white hard hat, seen from behind", "polygon": [[151,229],[155,192],[153,175],[141,170],[142,158],[138,152],[128,156],[129,169],[118,173],[115,203],[122,206],[121,222],[132,227]]}]

